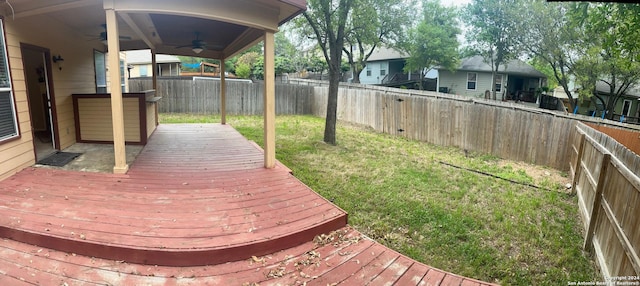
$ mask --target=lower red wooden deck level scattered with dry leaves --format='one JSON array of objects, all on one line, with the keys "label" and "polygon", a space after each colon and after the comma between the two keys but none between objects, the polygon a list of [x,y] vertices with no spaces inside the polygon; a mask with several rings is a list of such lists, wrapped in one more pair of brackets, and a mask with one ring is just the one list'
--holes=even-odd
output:
[{"label": "lower red wooden deck level scattered with dry leaves", "polygon": [[[344,227],[282,251],[217,265],[141,265],[0,241],[2,285],[493,285],[413,261]],[[336,283],[336,284],[334,284]]]}]

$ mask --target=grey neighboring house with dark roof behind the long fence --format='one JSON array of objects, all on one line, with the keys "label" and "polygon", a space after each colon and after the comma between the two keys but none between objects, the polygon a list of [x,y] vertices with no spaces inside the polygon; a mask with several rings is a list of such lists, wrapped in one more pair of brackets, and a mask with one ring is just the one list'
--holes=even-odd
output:
[{"label": "grey neighboring house with dark roof behind the long fence", "polygon": [[[461,60],[455,71],[438,70],[438,91],[473,97],[485,97],[493,90],[492,68],[483,57],[473,56]],[[516,99],[535,102],[535,92],[546,84],[546,76],[531,65],[512,60],[498,68],[495,84],[498,99]],[[504,96],[504,97],[503,97]]]}]

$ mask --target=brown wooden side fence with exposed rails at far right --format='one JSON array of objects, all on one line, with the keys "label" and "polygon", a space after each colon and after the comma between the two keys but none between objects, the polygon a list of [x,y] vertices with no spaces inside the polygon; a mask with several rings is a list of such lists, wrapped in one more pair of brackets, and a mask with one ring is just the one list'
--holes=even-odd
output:
[{"label": "brown wooden side fence with exposed rails at far right", "polygon": [[605,277],[639,276],[640,157],[583,123],[572,133],[570,163],[584,247],[594,251]]}]

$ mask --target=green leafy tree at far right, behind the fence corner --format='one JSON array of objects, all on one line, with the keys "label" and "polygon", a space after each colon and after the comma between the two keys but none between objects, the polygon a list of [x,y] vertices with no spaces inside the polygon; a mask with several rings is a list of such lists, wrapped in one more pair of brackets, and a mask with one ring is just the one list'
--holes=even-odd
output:
[{"label": "green leafy tree at far right, behind the fence corner", "polygon": [[598,97],[604,105],[605,117],[613,119],[618,100],[629,87],[640,81],[640,25],[637,4],[581,3],[576,4],[571,17],[586,35],[579,50],[581,58],[574,68],[584,96],[598,96],[598,82],[608,87],[607,100]]}]

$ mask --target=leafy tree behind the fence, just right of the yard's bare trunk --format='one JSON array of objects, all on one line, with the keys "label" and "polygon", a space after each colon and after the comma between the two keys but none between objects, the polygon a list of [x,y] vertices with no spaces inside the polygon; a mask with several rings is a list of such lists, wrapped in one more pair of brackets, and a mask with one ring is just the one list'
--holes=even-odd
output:
[{"label": "leafy tree behind the fence, just right of the yard's bare trunk", "polygon": [[[360,83],[360,72],[380,45],[395,46],[409,26],[414,1],[355,0],[348,22],[344,53],[353,72],[353,82]],[[355,51],[354,51],[355,47]]]}]

